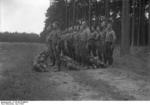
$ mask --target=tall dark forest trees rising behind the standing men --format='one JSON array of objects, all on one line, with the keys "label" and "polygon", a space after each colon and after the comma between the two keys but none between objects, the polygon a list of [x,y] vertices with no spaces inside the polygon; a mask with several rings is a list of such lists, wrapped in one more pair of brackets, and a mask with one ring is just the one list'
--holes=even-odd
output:
[{"label": "tall dark forest trees rising behind the standing men", "polygon": [[150,41],[149,11],[150,0],[54,0],[47,10],[41,36],[45,37],[48,25],[54,21],[64,30],[82,21],[97,25],[105,18],[113,22],[122,52],[128,52],[130,45],[147,45]]}]

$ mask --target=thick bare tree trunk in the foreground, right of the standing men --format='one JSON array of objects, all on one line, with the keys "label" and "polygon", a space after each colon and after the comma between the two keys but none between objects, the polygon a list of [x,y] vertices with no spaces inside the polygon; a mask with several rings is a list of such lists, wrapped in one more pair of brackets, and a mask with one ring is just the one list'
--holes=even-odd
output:
[{"label": "thick bare tree trunk in the foreground, right of the standing men", "polygon": [[129,53],[130,47],[130,15],[129,15],[129,0],[122,1],[122,29],[121,29],[121,55]]}]

